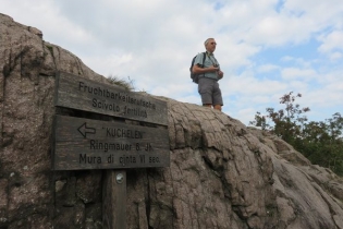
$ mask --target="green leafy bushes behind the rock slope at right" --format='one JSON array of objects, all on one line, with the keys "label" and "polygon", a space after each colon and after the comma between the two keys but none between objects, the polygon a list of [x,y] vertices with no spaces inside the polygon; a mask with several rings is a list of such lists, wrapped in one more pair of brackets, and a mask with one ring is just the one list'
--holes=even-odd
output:
[{"label": "green leafy bushes behind the rock slope at right", "polygon": [[262,130],[271,131],[306,156],[313,164],[330,168],[343,176],[343,118],[336,112],[324,121],[308,122],[305,112],[308,107],[301,108],[295,104],[293,92],[280,98],[284,109],[275,111],[267,108],[267,114],[256,112],[255,120],[249,123]]}]

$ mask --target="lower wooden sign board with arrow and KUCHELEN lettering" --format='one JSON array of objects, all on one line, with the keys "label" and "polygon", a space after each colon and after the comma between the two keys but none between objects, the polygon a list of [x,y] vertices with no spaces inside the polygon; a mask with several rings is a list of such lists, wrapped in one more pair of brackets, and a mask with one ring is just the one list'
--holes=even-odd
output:
[{"label": "lower wooden sign board with arrow and KUCHELEN lettering", "polygon": [[56,114],[53,138],[54,170],[170,165],[166,126],[148,128]]}]

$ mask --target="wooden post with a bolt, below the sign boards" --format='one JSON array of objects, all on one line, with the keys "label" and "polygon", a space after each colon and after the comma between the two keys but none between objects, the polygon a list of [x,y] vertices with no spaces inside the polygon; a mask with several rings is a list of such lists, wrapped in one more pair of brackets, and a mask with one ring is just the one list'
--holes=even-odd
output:
[{"label": "wooden post with a bolt, below the sign boards", "polygon": [[126,171],[107,170],[102,194],[103,229],[126,229]]}]

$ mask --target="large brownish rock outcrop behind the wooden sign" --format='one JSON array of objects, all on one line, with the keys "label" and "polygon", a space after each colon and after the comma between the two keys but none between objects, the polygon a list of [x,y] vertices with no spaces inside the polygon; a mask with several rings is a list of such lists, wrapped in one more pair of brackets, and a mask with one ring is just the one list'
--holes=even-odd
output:
[{"label": "large brownish rock outcrop behind the wooden sign", "polygon": [[[56,72],[106,83],[0,14],[0,228],[102,228],[102,170],[51,171]],[[128,169],[127,228],[343,229],[343,182],[274,135],[168,101],[171,165]]]}]

